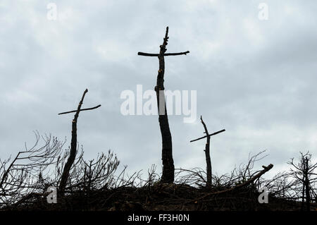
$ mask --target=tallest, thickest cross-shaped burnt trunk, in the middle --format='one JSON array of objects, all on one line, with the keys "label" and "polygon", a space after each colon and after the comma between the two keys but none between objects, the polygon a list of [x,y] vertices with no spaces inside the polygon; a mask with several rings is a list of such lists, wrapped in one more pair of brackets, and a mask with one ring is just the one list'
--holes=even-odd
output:
[{"label": "tallest, thickest cross-shaped burnt trunk, in the middle", "polygon": [[164,95],[164,72],[165,62],[164,56],[179,56],[186,55],[189,51],[178,52],[178,53],[166,53],[166,46],[168,44],[168,27],[166,28],[165,37],[163,44],[160,45],[159,54],[150,54],[144,52],[138,52],[139,56],[156,56],[159,58],[159,71],[156,78],[156,99],[159,109],[159,124],[162,136],[162,162],[163,162],[163,173],[161,181],[163,183],[174,182],[174,161],[173,161],[173,150],[172,150],[172,136],[170,135],[170,126],[168,124],[168,114],[166,111],[166,101]]}]

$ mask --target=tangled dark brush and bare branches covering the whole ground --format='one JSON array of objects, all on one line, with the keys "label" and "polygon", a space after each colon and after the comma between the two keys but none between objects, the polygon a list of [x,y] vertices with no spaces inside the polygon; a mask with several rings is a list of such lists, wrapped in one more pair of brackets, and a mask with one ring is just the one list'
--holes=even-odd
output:
[{"label": "tangled dark brush and bare branches covering the whole ground", "polygon": [[[127,166],[118,173],[120,161],[110,150],[96,159],[84,159],[77,147],[63,195],[57,204],[49,204],[49,187],[58,187],[69,156],[66,140],[35,132],[35,145],[18,152],[16,157],[0,159],[0,208],[44,210],[309,210],[316,208],[317,164],[311,154],[291,159],[290,171],[273,178],[262,177],[273,165],[254,170],[255,163],[266,157],[263,152],[249,156],[229,174],[212,175],[207,185],[204,169],[175,169],[175,182],[161,182],[153,165],[131,175]],[[39,147],[41,140],[44,142]],[[144,178],[144,175],[146,178]],[[270,204],[258,201],[261,188],[267,188]]]}]

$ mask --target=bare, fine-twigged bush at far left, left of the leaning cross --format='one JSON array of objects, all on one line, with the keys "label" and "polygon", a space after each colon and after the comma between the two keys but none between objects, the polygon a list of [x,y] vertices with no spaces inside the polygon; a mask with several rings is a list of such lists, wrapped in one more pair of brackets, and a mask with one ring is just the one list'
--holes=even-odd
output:
[{"label": "bare, fine-twigged bush at far left, left of the leaning cross", "polygon": [[25,150],[18,152],[12,162],[11,157],[4,161],[0,159],[0,207],[13,205],[21,197],[30,193],[42,193],[45,189],[42,175],[44,171],[49,171],[51,165],[56,164],[56,157],[66,141],[46,136],[42,137],[44,146],[37,148],[40,140],[37,132],[35,137],[35,145],[31,148],[25,146]]}]

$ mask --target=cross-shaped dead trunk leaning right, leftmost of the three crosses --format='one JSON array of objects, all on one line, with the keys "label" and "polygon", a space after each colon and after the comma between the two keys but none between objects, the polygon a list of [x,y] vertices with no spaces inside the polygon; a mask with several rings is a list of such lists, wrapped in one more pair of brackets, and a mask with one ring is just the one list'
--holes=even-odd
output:
[{"label": "cross-shaped dead trunk leaning right, leftmost of the three crosses", "polygon": [[[86,89],[84,94],[82,95],[82,99],[80,100],[80,103],[78,104],[77,110],[66,111],[66,112],[61,113],[61,114],[70,114],[70,113],[75,112],[75,116],[74,116],[74,119],[72,121],[72,140],[70,142],[70,153],[69,153],[68,160],[64,166],[63,174],[61,176],[61,182],[59,183],[59,187],[58,187],[58,190],[60,191],[61,194],[64,193],[70,169],[71,169],[71,167],[75,161],[75,158],[76,158],[76,153],[77,153],[77,119],[78,119],[78,116],[80,114],[80,111],[92,110],[92,109],[97,109],[97,108],[101,107],[101,104],[99,104],[97,107],[81,109],[82,102],[84,101],[84,98],[85,98],[85,95],[87,92],[88,92],[88,90]],[[61,114],[58,114],[58,115],[61,115]]]}]

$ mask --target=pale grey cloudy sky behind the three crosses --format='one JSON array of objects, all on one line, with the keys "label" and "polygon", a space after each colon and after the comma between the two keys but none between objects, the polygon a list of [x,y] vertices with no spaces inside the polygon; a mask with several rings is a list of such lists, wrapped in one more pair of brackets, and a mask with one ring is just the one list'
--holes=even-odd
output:
[{"label": "pale grey cloudy sky behind the three crosses", "polygon": [[[78,120],[85,157],[111,149],[130,171],[161,171],[158,116],[123,116],[120,93],[153,90],[155,57],[169,26],[166,90],[197,90],[197,121],[170,116],[175,167],[205,168],[204,128],[213,172],[223,174],[267,150],[271,174],[287,169],[299,151],[317,157],[316,1],[0,1],[0,157],[34,143],[32,130],[68,138]],[[268,20],[259,19],[259,4]],[[51,14],[49,14],[51,15]],[[66,146],[67,147],[67,146]],[[261,166],[259,164],[259,166]]]}]

